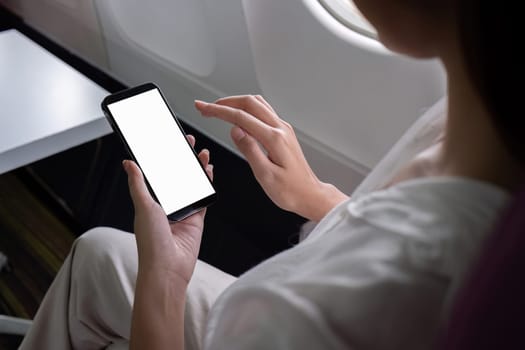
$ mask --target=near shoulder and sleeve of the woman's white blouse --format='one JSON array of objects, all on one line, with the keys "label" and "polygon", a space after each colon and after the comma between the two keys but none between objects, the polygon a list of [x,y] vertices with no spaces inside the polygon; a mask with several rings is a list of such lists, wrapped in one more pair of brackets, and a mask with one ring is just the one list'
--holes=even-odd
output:
[{"label": "near shoulder and sleeve of the woman's white blouse", "polygon": [[507,201],[457,177],[354,197],[219,297],[205,349],[431,348]]}]

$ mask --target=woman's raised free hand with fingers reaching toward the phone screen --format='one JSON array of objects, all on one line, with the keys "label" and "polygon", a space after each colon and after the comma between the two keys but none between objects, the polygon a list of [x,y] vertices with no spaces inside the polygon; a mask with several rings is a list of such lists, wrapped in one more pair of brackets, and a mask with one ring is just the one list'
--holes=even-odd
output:
[{"label": "woman's raised free hand with fingers reaching toward the phone screen", "polygon": [[203,116],[234,125],[233,141],[266,194],[282,209],[319,221],[348,198],[317,178],[292,126],[261,96],[232,96],[215,103],[195,101],[195,106]]}]

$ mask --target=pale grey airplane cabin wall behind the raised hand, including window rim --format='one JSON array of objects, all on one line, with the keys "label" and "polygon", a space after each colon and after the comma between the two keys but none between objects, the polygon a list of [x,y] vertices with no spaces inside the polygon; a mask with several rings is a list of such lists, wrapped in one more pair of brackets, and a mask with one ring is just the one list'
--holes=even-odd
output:
[{"label": "pale grey airplane cabin wall behind the raised hand, including window rim", "polygon": [[318,0],[0,0],[117,79],[154,81],[192,126],[236,152],[195,98],[262,94],[312,167],[350,192],[445,91],[435,61],[394,55]]}]

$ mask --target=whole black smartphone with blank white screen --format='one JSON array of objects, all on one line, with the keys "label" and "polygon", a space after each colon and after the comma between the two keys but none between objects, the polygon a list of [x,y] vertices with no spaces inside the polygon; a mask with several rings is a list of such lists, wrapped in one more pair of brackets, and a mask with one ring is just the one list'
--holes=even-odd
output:
[{"label": "whole black smartphone with blank white screen", "polygon": [[211,180],[155,84],[109,95],[102,110],[169,220],[182,220],[215,201]]}]

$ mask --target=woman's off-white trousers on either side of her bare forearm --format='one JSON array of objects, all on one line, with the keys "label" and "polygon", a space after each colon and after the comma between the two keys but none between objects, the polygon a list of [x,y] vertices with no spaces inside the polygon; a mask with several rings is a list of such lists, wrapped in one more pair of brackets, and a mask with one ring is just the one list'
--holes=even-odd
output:
[{"label": "woman's off-white trousers on either side of her bare forearm", "polygon": [[[78,238],[20,349],[127,349],[138,257],[135,236],[96,228]],[[235,277],[202,261],[187,292],[185,348],[200,349],[215,299]]]}]

